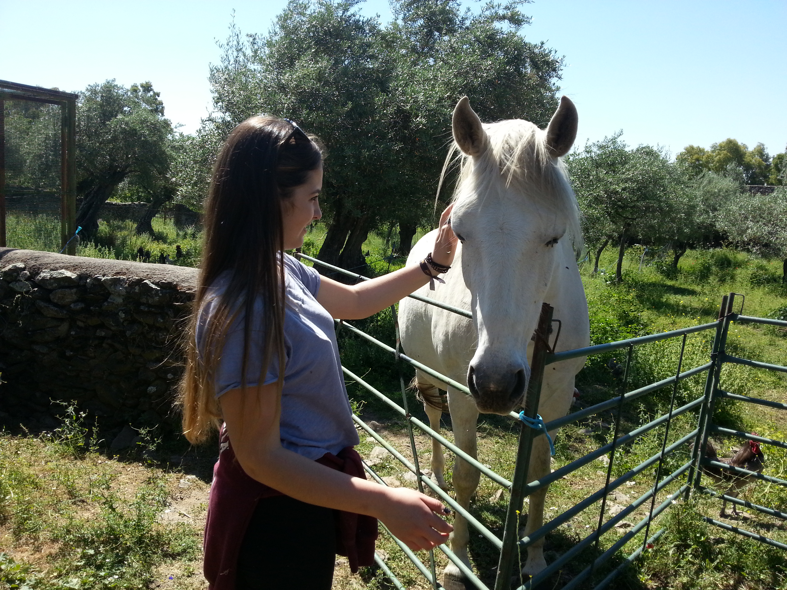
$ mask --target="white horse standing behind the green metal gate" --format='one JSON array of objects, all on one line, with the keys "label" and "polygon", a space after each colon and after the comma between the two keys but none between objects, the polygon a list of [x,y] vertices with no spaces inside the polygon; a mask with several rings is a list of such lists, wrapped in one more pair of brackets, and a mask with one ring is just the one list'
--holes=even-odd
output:
[{"label": "white horse standing behind the green metal gate", "polygon": [[[460,239],[453,269],[445,284],[417,293],[470,310],[473,319],[413,299],[400,303],[402,347],[408,356],[467,383],[472,396],[448,387],[448,404],[456,444],[475,458],[478,412],[507,415],[523,404],[530,378],[533,334],[541,303],[555,308],[562,320],[559,350],[589,345],[585,292],[575,257],[582,242],[577,203],[560,157],[574,143],[577,111],[566,97],[541,130],[524,120],[482,124],[467,97],[453,112],[454,146],[461,150],[459,183],[451,223]],[[446,164],[449,160],[446,160]],[[434,245],[434,232],[412,249],[408,265],[419,264]],[[575,375],[585,358],[546,367],[538,413],[545,422],[566,415],[574,393]],[[440,430],[442,403],[438,389],[446,385],[416,371],[416,385],[430,426]],[[551,432],[552,437],[555,436]],[[432,444],[432,478],[442,489],[445,458]],[[527,481],[549,474],[546,437],[534,440]],[[470,505],[479,473],[462,459],[453,466],[456,501]],[[546,489],[530,496],[526,534],[543,524]],[[467,566],[467,521],[456,514],[450,545]],[[523,573],[546,567],[543,540],[528,548]],[[464,576],[453,563],[445,568],[443,585],[464,588]]]}]

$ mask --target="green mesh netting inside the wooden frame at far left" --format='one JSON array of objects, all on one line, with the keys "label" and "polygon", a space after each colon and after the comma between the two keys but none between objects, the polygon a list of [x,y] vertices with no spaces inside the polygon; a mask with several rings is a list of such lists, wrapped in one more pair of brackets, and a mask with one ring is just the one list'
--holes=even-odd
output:
[{"label": "green mesh netting inside the wooden frame at far left", "polygon": [[6,245],[62,247],[62,107],[4,97]]}]

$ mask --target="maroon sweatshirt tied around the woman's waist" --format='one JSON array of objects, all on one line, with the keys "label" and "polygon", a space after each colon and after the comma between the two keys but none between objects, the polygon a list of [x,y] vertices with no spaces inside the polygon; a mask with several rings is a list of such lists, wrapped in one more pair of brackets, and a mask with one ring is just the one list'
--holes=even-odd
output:
[{"label": "maroon sweatshirt tied around the woman's waist", "polygon": [[[205,562],[203,572],[209,590],[235,590],[238,554],[257,501],[282,492],[249,478],[232,450],[227,426],[221,427],[219,460],[213,466],[208,515],[205,522]],[[366,479],[360,455],[352,447],[338,455],[326,453],[317,463],[355,478]],[[375,561],[377,519],[364,514],[334,511],[336,552],[345,555],[353,573],[358,566],[371,566]]]}]

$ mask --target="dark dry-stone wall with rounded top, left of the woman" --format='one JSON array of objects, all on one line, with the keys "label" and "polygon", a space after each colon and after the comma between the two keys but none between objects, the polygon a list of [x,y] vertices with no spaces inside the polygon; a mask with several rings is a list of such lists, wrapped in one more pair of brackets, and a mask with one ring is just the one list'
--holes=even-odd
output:
[{"label": "dark dry-stone wall with rounded top, left of the woman", "polygon": [[0,248],[0,419],[172,423],[197,270]]}]

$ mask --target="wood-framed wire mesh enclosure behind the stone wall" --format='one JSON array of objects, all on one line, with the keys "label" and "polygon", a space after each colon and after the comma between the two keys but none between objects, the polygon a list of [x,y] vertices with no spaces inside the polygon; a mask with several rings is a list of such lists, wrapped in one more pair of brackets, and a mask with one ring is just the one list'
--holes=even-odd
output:
[{"label": "wood-framed wire mesh enclosure behind the stone wall", "polygon": [[76,94],[0,80],[0,245],[76,253],[75,132]]}]

